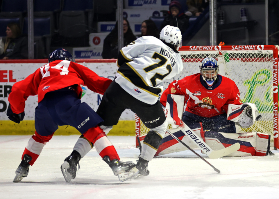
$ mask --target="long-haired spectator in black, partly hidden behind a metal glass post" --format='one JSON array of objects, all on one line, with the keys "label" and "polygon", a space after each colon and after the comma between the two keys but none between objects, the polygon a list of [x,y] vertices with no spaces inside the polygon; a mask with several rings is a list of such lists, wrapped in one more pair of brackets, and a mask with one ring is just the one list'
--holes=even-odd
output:
[{"label": "long-haired spectator in black, partly hidden behind a metal glass post", "polygon": [[[124,46],[127,46],[137,38],[133,34],[129,22],[126,18],[123,19],[123,33],[124,33]],[[108,34],[104,40],[103,53],[104,59],[117,59],[118,57],[118,29],[117,22],[115,28]]]}]

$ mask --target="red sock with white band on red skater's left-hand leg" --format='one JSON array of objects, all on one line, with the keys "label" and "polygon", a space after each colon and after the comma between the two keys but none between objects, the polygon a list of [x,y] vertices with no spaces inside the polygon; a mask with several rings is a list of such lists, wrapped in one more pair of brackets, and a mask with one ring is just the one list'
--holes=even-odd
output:
[{"label": "red sock with white band on red skater's left-hand leg", "polygon": [[41,136],[37,133],[37,131],[35,131],[35,134],[32,135],[32,137],[28,141],[21,159],[23,160],[23,156],[25,154],[31,156],[32,160],[29,162],[29,164],[32,166],[41,154],[44,145],[46,145],[46,143],[52,138],[53,133],[48,136]]}]

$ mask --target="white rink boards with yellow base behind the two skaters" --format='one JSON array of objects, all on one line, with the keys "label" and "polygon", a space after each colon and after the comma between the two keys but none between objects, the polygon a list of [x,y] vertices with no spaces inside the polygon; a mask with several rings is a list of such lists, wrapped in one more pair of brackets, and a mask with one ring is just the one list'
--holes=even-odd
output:
[{"label": "white rink boards with yellow base behind the two skaters", "polygon": [[[7,63],[8,62],[8,63]],[[100,59],[100,60],[76,60],[77,63],[93,70],[101,77],[114,79],[118,69],[116,59]],[[8,95],[11,92],[12,85],[25,79],[47,64],[47,60],[8,60],[0,61],[0,135],[28,135],[33,134],[35,108],[38,98],[30,96],[26,100],[24,121],[20,124],[11,122],[6,116],[8,107]],[[103,95],[94,93],[85,87],[86,93],[81,98],[82,102],[86,102],[94,111],[101,102]],[[126,110],[120,117],[120,122],[114,127],[110,135],[135,135],[135,114]],[[75,128],[68,126],[60,126],[56,131],[56,135],[80,134]]]}]

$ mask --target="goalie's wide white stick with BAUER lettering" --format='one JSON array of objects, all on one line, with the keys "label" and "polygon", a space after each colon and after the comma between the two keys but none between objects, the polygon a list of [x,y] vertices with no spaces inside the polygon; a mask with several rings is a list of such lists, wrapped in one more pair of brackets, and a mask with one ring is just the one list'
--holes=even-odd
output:
[{"label": "goalie's wide white stick with BAUER lettering", "polygon": [[[224,149],[220,149],[217,151],[212,150],[207,144],[205,144],[205,142],[203,141],[203,139],[201,139],[192,129],[190,129],[189,126],[187,126],[183,121],[181,121],[180,125],[178,126],[178,128],[185,134],[188,136],[188,138],[190,140],[192,140],[197,146],[198,148],[200,148],[203,153],[205,153],[209,158],[215,159],[215,158],[221,158],[223,156],[229,155],[235,151],[237,151],[238,149],[240,149],[240,144],[239,143],[235,143],[232,144],[231,146],[224,148]],[[169,132],[168,132],[169,133]]]}]

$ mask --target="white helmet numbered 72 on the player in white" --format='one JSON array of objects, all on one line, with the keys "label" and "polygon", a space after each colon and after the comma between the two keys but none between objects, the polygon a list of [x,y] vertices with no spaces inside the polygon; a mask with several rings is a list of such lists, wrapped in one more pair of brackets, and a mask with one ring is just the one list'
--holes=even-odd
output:
[{"label": "white helmet numbered 72 on the player in white", "polygon": [[165,26],[160,32],[160,40],[176,46],[176,50],[182,46],[182,35],[179,28],[174,26]]}]

